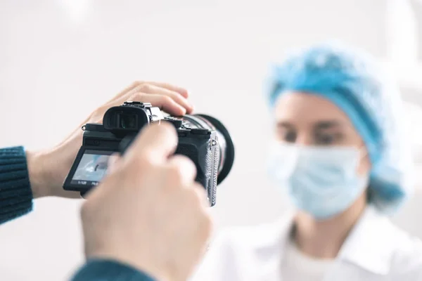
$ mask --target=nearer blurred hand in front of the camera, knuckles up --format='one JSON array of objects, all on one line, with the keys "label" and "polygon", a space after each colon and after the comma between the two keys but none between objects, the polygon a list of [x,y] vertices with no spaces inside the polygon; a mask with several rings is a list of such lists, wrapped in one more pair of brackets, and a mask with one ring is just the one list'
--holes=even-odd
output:
[{"label": "nearer blurred hand in front of the camera, knuckles up", "polygon": [[156,280],[187,280],[212,221],[196,167],[172,156],[176,146],[170,124],[148,126],[89,192],[82,207],[87,258],[117,260]]}]

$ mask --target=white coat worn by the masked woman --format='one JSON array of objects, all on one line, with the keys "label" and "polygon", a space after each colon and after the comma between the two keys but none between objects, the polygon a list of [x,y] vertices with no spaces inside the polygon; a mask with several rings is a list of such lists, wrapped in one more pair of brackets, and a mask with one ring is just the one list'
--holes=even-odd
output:
[{"label": "white coat worn by the masked woman", "polygon": [[[276,223],[225,230],[212,242],[191,280],[283,281],[281,261],[292,223],[289,214]],[[352,280],[422,281],[421,240],[368,207],[324,277],[324,281]]]}]

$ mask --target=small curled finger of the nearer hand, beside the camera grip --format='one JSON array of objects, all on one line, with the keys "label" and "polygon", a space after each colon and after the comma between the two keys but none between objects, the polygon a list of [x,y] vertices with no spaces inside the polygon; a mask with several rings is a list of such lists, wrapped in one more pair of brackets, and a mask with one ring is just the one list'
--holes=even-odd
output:
[{"label": "small curled finger of the nearer hand, beside the camera grip", "polygon": [[167,162],[167,167],[172,169],[181,186],[191,186],[196,177],[196,166],[192,160],[184,155],[174,155]]}]

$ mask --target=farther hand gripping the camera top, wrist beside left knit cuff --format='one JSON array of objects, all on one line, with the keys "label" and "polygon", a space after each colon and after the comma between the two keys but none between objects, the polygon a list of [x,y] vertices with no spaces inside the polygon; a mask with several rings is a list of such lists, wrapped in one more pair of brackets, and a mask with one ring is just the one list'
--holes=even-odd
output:
[{"label": "farther hand gripping the camera top, wrist beside left knit cuff", "polygon": [[172,115],[189,114],[192,112],[193,106],[187,98],[188,92],[186,89],[178,86],[159,82],[134,82],[127,89],[94,110],[75,131],[70,133],[70,136],[56,147],[43,151],[27,151],[28,169],[34,198],[46,196],[80,198],[79,192],[63,190],[63,182],[82,145],[82,125],[101,123],[104,113],[110,107],[122,105],[127,100],[152,103]]}]

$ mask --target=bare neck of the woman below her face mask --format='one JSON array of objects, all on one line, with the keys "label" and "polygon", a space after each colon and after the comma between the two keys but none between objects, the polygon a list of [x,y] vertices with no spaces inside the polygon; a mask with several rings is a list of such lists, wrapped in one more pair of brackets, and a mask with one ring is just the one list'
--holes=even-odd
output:
[{"label": "bare neck of the woman below her face mask", "polygon": [[325,221],[317,221],[300,212],[295,218],[293,239],[300,251],[308,256],[334,259],[365,207],[366,197],[359,198],[342,214]]}]

